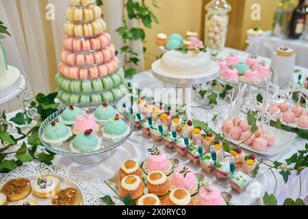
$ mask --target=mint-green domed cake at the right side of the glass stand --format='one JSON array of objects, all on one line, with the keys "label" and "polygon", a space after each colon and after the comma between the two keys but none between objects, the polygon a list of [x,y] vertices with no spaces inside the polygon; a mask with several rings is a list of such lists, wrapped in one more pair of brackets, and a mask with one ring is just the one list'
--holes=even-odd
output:
[{"label": "mint-green domed cake at the right side of the glass stand", "polygon": [[120,138],[125,138],[129,134],[129,131],[130,129],[127,124],[120,119],[119,114],[116,114],[114,118],[111,118],[105,123],[103,137],[118,140]]}]

